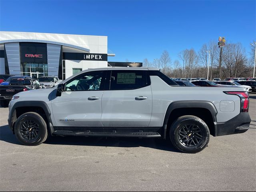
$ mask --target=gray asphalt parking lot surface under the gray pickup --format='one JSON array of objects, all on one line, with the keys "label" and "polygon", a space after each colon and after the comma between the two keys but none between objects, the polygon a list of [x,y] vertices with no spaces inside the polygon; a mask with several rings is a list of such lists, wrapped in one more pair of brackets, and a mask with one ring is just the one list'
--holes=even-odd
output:
[{"label": "gray asphalt parking lot surface under the gray pickup", "polygon": [[51,137],[23,146],[0,108],[0,191],[255,191],[256,94],[250,129],[210,137],[197,154],[160,139]]}]

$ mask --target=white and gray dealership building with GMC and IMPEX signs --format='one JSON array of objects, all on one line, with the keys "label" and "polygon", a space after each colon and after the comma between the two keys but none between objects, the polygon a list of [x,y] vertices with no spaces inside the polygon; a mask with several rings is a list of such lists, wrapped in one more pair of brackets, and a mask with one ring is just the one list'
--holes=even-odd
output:
[{"label": "white and gray dealership building with GMC and IMPEX signs", "polygon": [[88,68],[142,66],[108,62],[107,36],[0,32],[0,74],[58,76],[66,79]]}]

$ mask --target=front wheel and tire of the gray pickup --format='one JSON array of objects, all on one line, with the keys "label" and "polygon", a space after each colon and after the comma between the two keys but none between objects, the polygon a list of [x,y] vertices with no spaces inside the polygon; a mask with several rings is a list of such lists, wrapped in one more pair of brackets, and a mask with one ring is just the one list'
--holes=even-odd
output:
[{"label": "front wheel and tire of the gray pickup", "polygon": [[48,137],[45,120],[35,112],[22,114],[14,125],[14,133],[19,142],[28,146],[39,145]]}]

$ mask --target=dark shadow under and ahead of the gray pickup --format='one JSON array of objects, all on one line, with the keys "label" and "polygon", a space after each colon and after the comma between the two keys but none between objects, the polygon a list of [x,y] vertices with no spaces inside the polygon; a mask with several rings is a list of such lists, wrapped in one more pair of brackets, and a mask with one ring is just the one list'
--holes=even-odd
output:
[{"label": "dark shadow under and ahead of the gray pickup", "polygon": [[[0,126],[0,140],[11,144],[22,145],[12,134],[8,125]],[[50,136],[44,144],[50,145],[79,145],[102,147],[147,147],[158,150],[178,152],[170,141],[152,138],[106,138],[106,137],[76,137],[76,136]]]}]

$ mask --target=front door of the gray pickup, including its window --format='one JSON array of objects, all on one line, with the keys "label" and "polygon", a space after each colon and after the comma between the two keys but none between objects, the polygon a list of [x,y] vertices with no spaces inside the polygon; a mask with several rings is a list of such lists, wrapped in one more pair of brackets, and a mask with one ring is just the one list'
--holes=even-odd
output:
[{"label": "front door of the gray pickup, including its window", "polygon": [[86,72],[64,84],[62,95],[52,100],[56,126],[102,127],[105,74],[105,71]]}]

